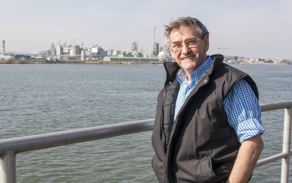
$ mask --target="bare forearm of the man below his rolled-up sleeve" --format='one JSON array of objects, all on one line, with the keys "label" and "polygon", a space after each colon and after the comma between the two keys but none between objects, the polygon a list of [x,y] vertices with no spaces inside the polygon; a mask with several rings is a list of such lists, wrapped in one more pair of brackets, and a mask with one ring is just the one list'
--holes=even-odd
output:
[{"label": "bare forearm of the man below his rolled-up sleeve", "polygon": [[243,141],[227,183],[246,183],[256,166],[263,147],[264,143],[260,135]]}]

